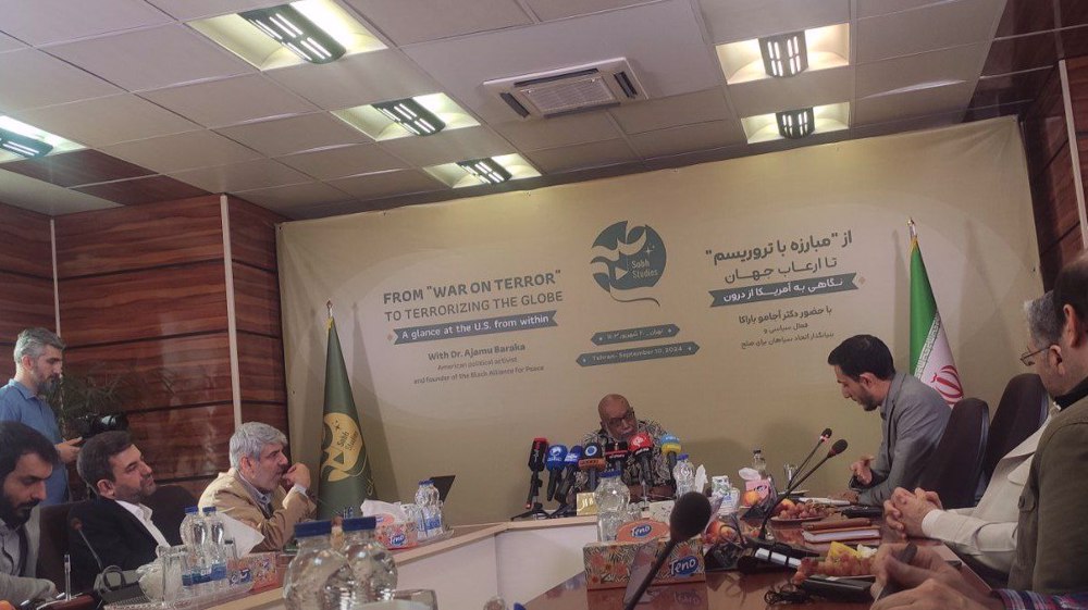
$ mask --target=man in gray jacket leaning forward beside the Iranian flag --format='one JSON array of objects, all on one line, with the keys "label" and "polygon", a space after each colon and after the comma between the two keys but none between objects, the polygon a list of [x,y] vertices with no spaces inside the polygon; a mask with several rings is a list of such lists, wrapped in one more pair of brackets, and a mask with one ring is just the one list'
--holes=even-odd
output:
[{"label": "man in gray jacket leaning forward beside the Iranian flag", "polygon": [[952,410],[938,391],[906,373],[897,373],[891,351],[873,335],[855,335],[827,357],[842,397],[865,411],[880,408],[880,449],[876,458],[851,464],[845,496],[882,506],[897,487],[914,489],[929,456],[944,434]]}]

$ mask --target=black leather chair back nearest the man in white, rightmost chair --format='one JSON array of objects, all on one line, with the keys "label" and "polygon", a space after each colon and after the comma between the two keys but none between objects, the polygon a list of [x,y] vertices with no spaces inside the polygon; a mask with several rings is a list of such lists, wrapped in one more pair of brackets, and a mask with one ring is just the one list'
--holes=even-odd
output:
[{"label": "black leather chair back nearest the man in white, rightmost chair", "polygon": [[1049,409],[1050,397],[1039,375],[1023,373],[1009,379],[990,422],[990,438],[982,459],[985,483],[989,483],[998,461],[1047,421]]}]

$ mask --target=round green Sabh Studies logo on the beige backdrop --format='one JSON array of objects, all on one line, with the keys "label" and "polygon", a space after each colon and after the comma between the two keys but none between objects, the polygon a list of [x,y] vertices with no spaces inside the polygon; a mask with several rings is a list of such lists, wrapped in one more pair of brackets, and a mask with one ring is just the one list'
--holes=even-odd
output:
[{"label": "round green Sabh Studies logo on the beige backdrop", "polygon": [[642,296],[665,273],[665,241],[650,225],[628,229],[627,221],[620,221],[601,232],[593,241],[593,279],[613,299],[660,306],[657,299]]}]

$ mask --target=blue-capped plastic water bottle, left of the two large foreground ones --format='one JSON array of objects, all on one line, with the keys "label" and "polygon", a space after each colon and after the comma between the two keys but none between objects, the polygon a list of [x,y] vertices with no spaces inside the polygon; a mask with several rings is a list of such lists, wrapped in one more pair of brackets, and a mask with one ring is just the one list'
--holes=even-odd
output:
[{"label": "blue-capped plastic water bottle, left of the two large foreground ones", "polygon": [[[344,570],[350,580],[347,558],[333,550],[329,521],[307,521],[295,525],[298,555],[287,567],[283,577],[283,600],[288,610],[318,610],[325,608],[325,585],[337,570]],[[347,585],[354,587],[354,583]]]}]

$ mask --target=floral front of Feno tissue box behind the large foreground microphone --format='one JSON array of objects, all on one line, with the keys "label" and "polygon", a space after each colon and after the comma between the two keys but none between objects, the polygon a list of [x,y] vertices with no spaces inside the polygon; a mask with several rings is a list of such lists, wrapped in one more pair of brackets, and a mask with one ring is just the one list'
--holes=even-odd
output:
[{"label": "floral front of Feno tissue box behind the large foreground microphone", "polygon": [[[590,543],[582,547],[585,563],[585,588],[605,589],[626,587],[631,576],[631,564],[643,543]],[[658,552],[666,539],[657,539]],[[706,580],[703,563],[703,544],[695,537],[672,549],[669,558],[654,576],[653,584],[694,583]]]}]

